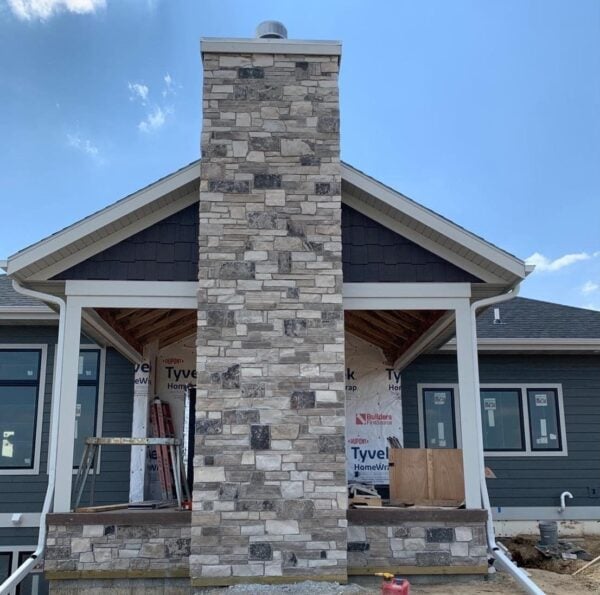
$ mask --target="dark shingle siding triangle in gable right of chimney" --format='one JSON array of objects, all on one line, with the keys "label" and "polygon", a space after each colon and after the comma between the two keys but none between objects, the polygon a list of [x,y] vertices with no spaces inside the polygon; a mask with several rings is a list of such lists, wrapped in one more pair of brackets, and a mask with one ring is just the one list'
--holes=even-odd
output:
[{"label": "dark shingle siding triangle in gable right of chimney", "polygon": [[342,205],[346,283],[480,282],[436,254]]}]

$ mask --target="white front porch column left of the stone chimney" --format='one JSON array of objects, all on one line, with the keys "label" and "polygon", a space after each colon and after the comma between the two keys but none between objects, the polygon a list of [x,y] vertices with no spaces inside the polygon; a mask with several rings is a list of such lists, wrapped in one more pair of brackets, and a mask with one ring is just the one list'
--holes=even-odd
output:
[{"label": "white front porch column left of the stone chimney", "polygon": [[61,399],[54,512],[69,512],[71,510],[73,452],[75,450],[75,408],[77,404],[79,342],[81,337],[81,305],[76,299],[70,297],[67,297],[66,302],[65,348],[61,385],[58,387]]}]

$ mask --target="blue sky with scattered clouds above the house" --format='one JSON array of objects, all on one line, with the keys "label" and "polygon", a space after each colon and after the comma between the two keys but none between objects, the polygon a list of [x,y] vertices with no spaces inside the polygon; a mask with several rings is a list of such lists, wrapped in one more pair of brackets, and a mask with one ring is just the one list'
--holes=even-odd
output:
[{"label": "blue sky with scattered clouds above the house", "polygon": [[199,38],[340,39],[342,157],[600,309],[597,0],[0,0],[0,257],[197,159]]}]

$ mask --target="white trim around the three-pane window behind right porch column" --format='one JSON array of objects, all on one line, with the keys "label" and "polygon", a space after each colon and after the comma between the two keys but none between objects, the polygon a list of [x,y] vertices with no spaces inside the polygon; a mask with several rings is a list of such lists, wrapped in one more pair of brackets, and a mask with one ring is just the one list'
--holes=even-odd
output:
[{"label": "white trim around the three-pane window behind right porch column", "polygon": [[[460,427],[460,394],[458,384],[446,383],[419,383],[417,384],[417,404],[419,411],[419,444],[421,448],[425,448],[425,415],[423,411],[423,391],[428,389],[451,388],[454,390],[454,424],[456,427],[456,445],[457,448],[462,448],[462,431]],[[553,384],[547,382],[528,382],[528,383],[485,383],[480,385],[481,389],[513,389],[518,390],[521,394],[521,409],[523,411],[523,433],[525,437],[525,450],[519,451],[484,451],[485,457],[566,457],[569,456],[567,448],[567,428],[565,424],[565,408],[563,402],[562,384]],[[558,398],[558,421],[560,424],[560,441],[561,450],[541,451],[532,450],[531,435],[529,428],[529,403],[527,399],[527,391],[529,389],[540,390],[555,390]]]}]

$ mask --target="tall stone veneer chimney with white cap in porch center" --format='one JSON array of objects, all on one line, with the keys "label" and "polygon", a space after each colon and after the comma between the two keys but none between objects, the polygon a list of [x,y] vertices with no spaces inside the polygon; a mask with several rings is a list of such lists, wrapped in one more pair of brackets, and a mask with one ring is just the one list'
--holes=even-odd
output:
[{"label": "tall stone veneer chimney with white cap in porch center", "polygon": [[192,584],[344,579],[340,46],[202,49]]}]

